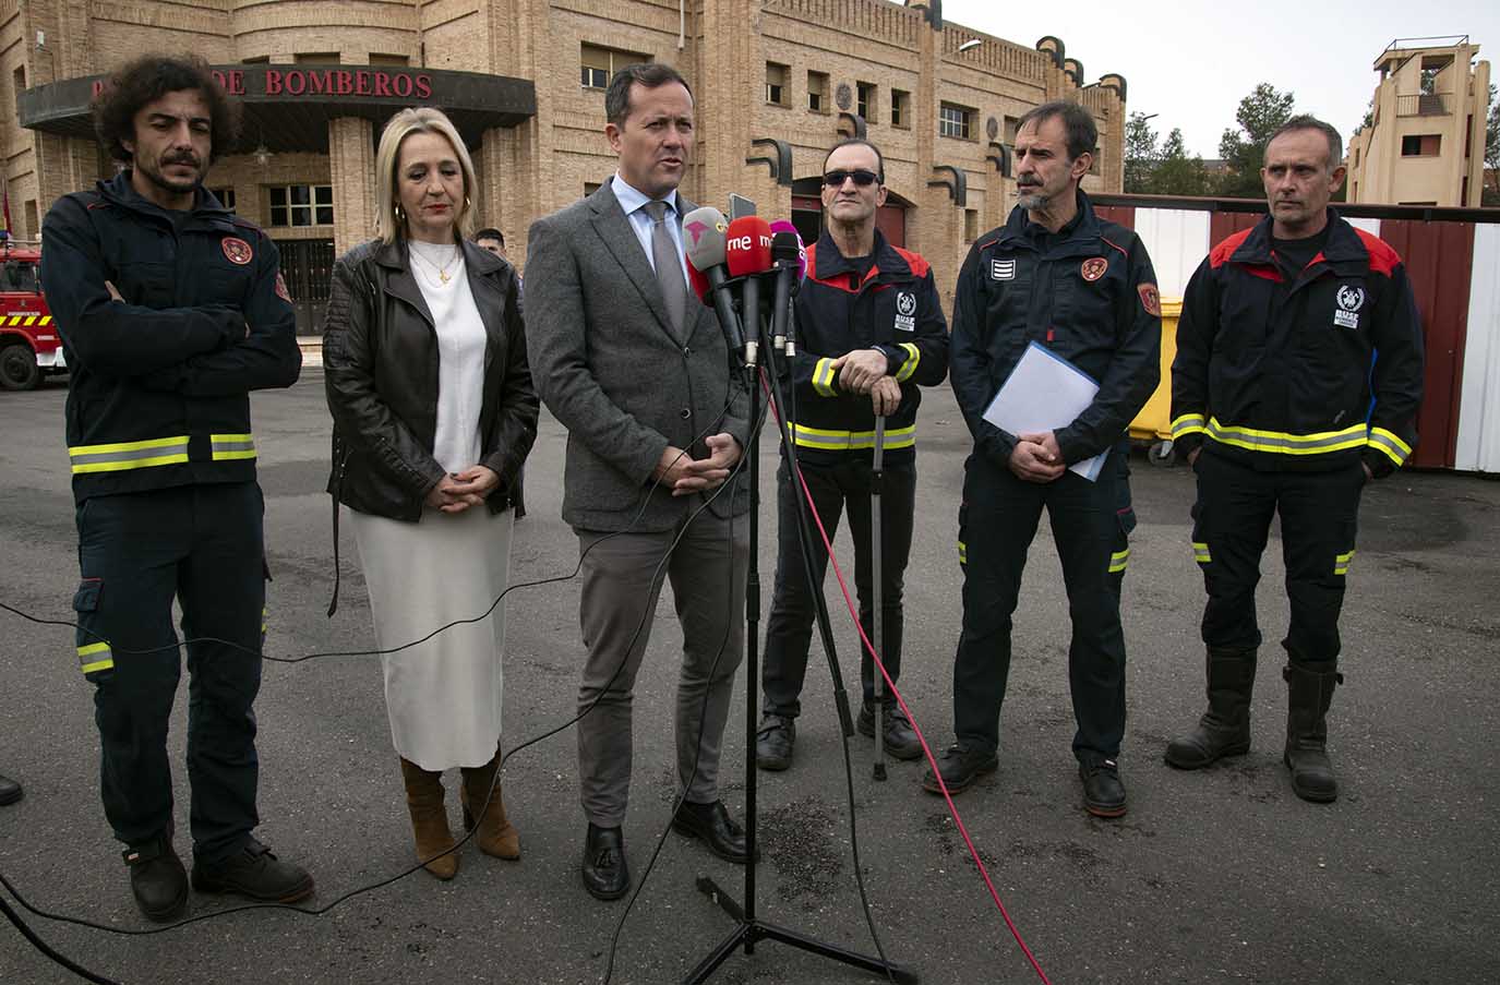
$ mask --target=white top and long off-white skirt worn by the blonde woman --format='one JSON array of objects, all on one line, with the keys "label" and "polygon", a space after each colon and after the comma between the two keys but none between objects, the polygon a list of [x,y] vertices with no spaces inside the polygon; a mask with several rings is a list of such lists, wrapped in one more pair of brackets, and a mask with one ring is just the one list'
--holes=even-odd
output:
[{"label": "white top and long off-white skirt worn by the blonde woman", "polygon": [[[460,472],[480,459],[484,324],[462,253],[408,246],[438,334],[434,457]],[[480,505],[446,514],[424,507],[417,523],[352,510],[344,516],[354,528],[380,649],[472,619],[382,658],[396,751],[428,771],[483,766],[500,739],[506,603],[490,606],[510,577],[512,511],[492,516]]]}]

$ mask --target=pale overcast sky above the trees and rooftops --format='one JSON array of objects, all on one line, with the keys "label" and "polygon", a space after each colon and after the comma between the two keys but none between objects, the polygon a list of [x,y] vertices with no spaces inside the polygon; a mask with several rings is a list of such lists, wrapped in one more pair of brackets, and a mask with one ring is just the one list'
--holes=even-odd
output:
[{"label": "pale overcast sky above the trees and rooftops", "polygon": [[[1188,13],[1191,10],[1191,13]],[[1395,37],[1468,34],[1500,66],[1500,0],[1323,0],[1322,3],[1064,4],[945,0],[944,18],[1028,48],[1053,34],[1083,63],[1084,82],[1125,76],[1128,109],[1161,114],[1162,136],[1182,127],[1188,153],[1218,157],[1234,108],[1258,82],[1296,93],[1347,138],[1365,115],[1376,57]]]}]

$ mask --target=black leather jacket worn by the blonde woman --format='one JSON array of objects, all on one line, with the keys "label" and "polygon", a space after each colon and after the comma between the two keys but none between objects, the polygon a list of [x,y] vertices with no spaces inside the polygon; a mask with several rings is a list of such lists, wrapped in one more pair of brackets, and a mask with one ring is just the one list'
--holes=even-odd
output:
[{"label": "black leather jacket worn by the blonde woman", "polygon": [[[537,438],[538,405],[519,282],[510,264],[471,243],[464,264],[489,337],[477,465],[500,475],[490,513],[514,507],[520,517],[520,466]],[[363,243],[333,264],[322,367],[333,412],[328,492],[360,513],[417,520],[444,469],[432,457],[438,337],[405,243]]]}]

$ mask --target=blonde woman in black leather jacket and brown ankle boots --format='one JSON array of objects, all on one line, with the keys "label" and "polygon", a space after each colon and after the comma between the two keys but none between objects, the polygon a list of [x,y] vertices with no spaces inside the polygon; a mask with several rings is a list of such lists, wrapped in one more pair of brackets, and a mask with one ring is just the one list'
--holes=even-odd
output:
[{"label": "blonde woman in black leather jacket and brown ankle boots", "polygon": [[[465,241],[474,165],[442,112],[398,112],[376,151],[380,237],[333,265],[322,364],[339,504],[354,528],[381,649],[417,858],[458,873],[442,771],[466,828],[520,858],[500,766],[510,535],[537,433],[516,271]],[[334,604],[338,588],[334,588]],[[484,613],[489,615],[484,615]],[[332,613],[332,607],[330,607]]]}]

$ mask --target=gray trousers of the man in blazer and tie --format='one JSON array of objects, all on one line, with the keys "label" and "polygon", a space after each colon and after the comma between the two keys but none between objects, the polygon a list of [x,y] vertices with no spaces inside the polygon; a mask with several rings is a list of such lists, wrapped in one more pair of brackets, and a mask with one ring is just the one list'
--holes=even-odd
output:
[{"label": "gray trousers of the man in blazer and tie", "polygon": [[[600,828],[618,826],[626,819],[630,708],[663,576],[672,579],[676,618],[682,624],[682,670],[676,684],[678,790],[686,790],[686,799],[694,804],[718,799],[724,723],[735,670],[744,658],[748,523],[746,517],[730,522],[700,513],[652,580],[652,571],[680,532],[681,526],[606,540],[608,535],[598,531],[576,531],[580,552],[594,546],[584,558],[579,601],[588,649],[578,690],[579,711],[598,702],[578,723],[578,774],[584,816]],[[639,634],[636,627],[640,627]],[[634,645],[627,652],[632,636]]]}]

